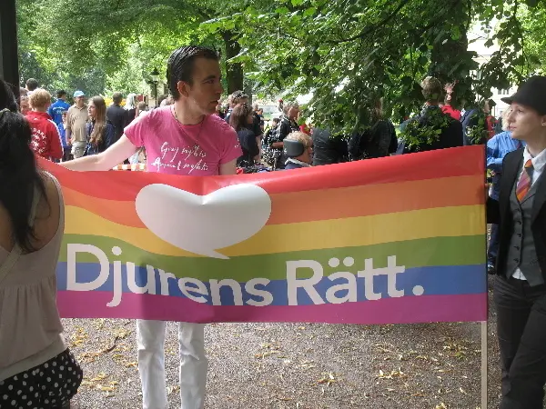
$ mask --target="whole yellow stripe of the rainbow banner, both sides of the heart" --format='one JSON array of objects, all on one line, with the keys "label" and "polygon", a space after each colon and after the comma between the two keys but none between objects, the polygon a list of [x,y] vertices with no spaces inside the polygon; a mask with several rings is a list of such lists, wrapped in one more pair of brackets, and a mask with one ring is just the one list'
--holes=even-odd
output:
[{"label": "whole yellow stripe of the rainbow banner, both sides of the heart", "polygon": [[[229,256],[275,254],[430,238],[485,234],[483,205],[437,207],[317,222],[265,226],[247,241],[218,253]],[[74,206],[66,206],[66,234],[108,236],[147,252],[196,256],[167,244],[146,229],[127,227]],[[228,234],[228,232],[226,232]]]}]

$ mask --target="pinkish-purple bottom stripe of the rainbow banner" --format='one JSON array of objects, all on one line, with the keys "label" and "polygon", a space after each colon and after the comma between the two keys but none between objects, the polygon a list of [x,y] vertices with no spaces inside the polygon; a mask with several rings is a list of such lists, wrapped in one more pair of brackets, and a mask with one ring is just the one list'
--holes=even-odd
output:
[{"label": "pinkish-purple bottom stripe of the rainbow banner", "polygon": [[142,318],[194,323],[278,322],[329,324],[410,324],[487,320],[487,293],[420,295],[376,301],[319,305],[207,305],[187,298],[124,293],[108,307],[110,292],[59,291],[64,318]]}]

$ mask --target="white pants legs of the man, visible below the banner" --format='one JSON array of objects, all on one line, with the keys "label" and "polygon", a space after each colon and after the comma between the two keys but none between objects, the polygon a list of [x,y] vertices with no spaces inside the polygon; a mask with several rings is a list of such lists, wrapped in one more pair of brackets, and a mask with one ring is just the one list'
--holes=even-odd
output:
[{"label": "white pants legs of the man, visible below the banner", "polygon": [[[165,321],[136,320],[143,409],[167,409]],[[202,409],[207,387],[205,324],[178,324],[182,409]]]}]

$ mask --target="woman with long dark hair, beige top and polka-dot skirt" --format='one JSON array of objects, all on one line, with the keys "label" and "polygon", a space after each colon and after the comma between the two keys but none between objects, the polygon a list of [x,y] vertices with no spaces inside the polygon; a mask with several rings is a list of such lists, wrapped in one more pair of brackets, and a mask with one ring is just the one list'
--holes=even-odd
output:
[{"label": "woman with long dark hair, beige top and polka-dot skirt", "polygon": [[67,408],[82,371],[56,308],[64,203],[56,179],[37,169],[31,137],[0,80],[0,403]]}]

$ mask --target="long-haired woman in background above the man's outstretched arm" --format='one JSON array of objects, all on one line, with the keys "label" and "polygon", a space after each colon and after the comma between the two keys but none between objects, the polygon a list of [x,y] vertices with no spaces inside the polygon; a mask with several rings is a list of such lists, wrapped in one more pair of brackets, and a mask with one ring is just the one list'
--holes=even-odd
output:
[{"label": "long-haired woman in background above the man's outstretched arm", "polygon": [[106,102],[102,96],[94,96],[87,105],[87,146],[85,155],[96,155],[106,151],[116,142],[114,125],[106,118]]}]

